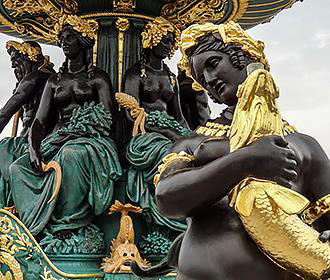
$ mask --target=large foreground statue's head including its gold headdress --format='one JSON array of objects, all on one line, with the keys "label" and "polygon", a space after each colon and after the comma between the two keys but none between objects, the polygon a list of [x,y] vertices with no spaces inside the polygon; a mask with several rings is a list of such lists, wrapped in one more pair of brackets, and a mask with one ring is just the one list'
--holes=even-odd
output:
[{"label": "large foreground statue's head including its gold headdress", "polygon": [[264,44],[252,39],[234,23],[192,25],[182,33],[180,68],[217,103],[234,105],[239,84],[247,77],[247,65],[261,63],[269,69]]}]

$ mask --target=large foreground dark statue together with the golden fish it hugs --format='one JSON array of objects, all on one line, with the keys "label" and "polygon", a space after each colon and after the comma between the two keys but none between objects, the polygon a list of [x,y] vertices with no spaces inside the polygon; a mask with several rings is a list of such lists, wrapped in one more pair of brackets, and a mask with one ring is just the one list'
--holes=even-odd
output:
[{"label": "large foreground dark statue together with the golden fish it hugs", "polygon": [[164,158],[159,210],[187,218],[188,229],[161,267],[136,271],[175,267],[180,280],[328,279],[329,214],[312,226],[302,220],[309,201],[329,194],[329,159],[280,118],[263,43],[235,23],[208,23],[185,30],[181,50],[187,73],[227,108]]}]

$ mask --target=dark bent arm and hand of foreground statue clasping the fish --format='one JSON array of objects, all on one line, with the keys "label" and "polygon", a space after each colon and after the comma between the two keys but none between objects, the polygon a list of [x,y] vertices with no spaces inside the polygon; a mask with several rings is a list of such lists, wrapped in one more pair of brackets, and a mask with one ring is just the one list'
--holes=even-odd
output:
[{"label": "dark bent arm and hand of foreground statue clasping the fish", "polygon": [[[265,137],[209,163],[194,167],[194,160],[176,160],[165,166],[156,188],[160,212],[171,218],[190,217],[225,197],[248,176],[265,178],[290,187],[291,150],[280,137]],[[187,141],[189,142],[189,141]],[[192,155],[182,141],[170,153]],[[289,168],[288,168],[289,167]],[[293,168],[293,169],[292,169]]]}]

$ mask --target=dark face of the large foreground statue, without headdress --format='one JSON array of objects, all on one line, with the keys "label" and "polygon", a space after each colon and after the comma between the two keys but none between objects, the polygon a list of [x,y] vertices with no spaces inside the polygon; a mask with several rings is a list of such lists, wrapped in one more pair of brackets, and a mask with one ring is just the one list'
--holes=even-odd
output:
[{"label": "dark face of the large foreground statue, without headdress", "polygon": [[215,102],[228,106],[237,103],[237,89],[247,76],[246,68],[235,68],[229,55],[220,51],[193,55],[190,66],[194,79],[208,90]]}]

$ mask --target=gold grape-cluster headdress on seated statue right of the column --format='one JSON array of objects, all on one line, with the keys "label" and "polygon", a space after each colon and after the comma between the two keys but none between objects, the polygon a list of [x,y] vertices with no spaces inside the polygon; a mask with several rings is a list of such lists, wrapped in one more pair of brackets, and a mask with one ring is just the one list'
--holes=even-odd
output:
[{"label": "gold grape-cluster headdress on seated statue right of the column", "polygon": [[167,33],[173,32],[175,35],[175,43],[169,53],[169,58],[173,56],[178,49],[178,43],[180,38],[180,30],[171,22],[163,17],[157,17],[152,22],[149,22],[142,32],[142,47],[144,49],[157,46],[162,40],[163,36]]}]

